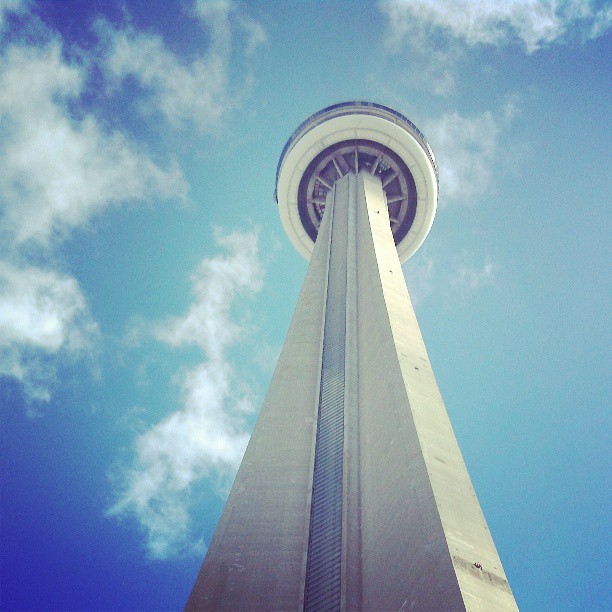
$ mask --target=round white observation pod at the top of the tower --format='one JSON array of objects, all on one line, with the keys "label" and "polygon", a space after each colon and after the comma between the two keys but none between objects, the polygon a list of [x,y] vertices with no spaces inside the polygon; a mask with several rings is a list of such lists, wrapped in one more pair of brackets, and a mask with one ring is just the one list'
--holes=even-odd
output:
[{"label": "round white observation pod at the top of the tower", "polygon": [[344,102],[293,133],[276,171],[276,201],[293,246],[310,259],[327,192],[348,172],[380,177],[400,261],[423,244],[438,201],[438,166],[420,130],[391,108]]}]

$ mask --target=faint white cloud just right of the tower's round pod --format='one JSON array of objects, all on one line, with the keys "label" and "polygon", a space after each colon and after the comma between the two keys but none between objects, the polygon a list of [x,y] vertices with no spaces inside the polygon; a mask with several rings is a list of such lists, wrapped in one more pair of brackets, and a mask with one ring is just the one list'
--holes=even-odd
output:
[{"label": "faint white cloud just right of the tower's round pod", "polygon": [[516,113],[508,103],[499,113],[473,117],[447,113],[425,122],[440,170],[440,201],[473,204],[492,184],[504,128]]}]

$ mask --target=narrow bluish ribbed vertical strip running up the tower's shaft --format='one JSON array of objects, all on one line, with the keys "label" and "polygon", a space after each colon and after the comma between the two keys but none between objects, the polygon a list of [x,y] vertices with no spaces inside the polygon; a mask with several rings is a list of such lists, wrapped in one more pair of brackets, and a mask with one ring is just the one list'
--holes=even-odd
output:
[{"label": "narrow bluish ribbed vertical strip running up the tower's shaft", "polygon": [[[334,195],[335,197],[335,195]],[[333,205],[304,610],[340,609],[347,206]]]}]

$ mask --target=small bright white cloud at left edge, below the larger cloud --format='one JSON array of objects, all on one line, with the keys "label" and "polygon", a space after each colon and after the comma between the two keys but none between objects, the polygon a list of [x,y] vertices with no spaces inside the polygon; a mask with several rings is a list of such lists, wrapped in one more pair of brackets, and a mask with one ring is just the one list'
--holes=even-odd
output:
[{"label": "small bright white cloud at left edge, below the larger cloud", "polygon": [[82,353],[97,333],[74,278],[0,261],[0,374],[31,399],[51,397],[55,370],[44,357]]}]

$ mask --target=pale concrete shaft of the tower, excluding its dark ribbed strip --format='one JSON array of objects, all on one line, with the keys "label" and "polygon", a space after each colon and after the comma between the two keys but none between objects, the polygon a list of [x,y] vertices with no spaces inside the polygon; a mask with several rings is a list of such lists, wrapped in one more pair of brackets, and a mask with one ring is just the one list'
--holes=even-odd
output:
[{"label": "pale concrete shaft of the tower, excluding its dark ribbed strip", "polygon": [[431,371],[380,180],[347,174],[327,198],[285,346],[187,608],[303,607],[330,216],[345,206],[333,224],[347,244],[338,260],[346,267],[341,608],[516,610]]}]

